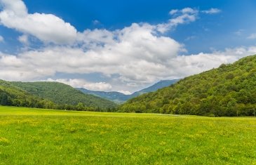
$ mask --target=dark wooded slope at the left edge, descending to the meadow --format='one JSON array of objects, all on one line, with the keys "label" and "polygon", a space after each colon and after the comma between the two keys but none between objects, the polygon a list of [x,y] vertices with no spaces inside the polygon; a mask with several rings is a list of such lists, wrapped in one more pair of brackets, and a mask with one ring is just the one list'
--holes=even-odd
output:
[{"label": "dark wooded slope at the left edge, descending to the meadow", "polygon": [[8,81],[0,80],[0,105],[49,108],[54,103],[27,93]]}]

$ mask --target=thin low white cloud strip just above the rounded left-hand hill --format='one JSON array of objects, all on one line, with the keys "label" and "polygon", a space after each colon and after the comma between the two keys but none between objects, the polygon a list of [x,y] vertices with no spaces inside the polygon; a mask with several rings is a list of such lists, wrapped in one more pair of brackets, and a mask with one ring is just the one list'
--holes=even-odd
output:
[{"label": "thin low white cloud strip just above the rounded left-hand hill", "polygon": [[73,86],[74,88],[86,88],[92,91],[111,91],[112,85],[107,84],[106,82],[88,82],[84,79],[47,79],[46,81],[55,81],[63,84],[67,84],[69,86]]}]

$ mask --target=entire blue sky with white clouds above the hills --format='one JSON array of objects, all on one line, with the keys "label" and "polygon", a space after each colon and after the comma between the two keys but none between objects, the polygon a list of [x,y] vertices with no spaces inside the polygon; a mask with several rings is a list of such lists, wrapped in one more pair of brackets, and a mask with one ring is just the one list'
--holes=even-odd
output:
[{"label": "entire blue sky with white clouds above the hills", "polygon": [[254,0],[0,0],[0,79],[133,93],[256,54]]}]

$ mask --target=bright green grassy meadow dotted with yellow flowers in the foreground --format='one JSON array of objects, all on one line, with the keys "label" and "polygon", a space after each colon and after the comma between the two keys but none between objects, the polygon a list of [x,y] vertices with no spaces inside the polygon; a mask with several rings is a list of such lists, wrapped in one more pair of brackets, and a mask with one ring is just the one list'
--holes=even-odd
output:
[{"label": "bright green grassy meadow dotted with yellow flowers in the foreground", "polygon": [[0,107],[0,164],[256,164],[256,119]]}]

